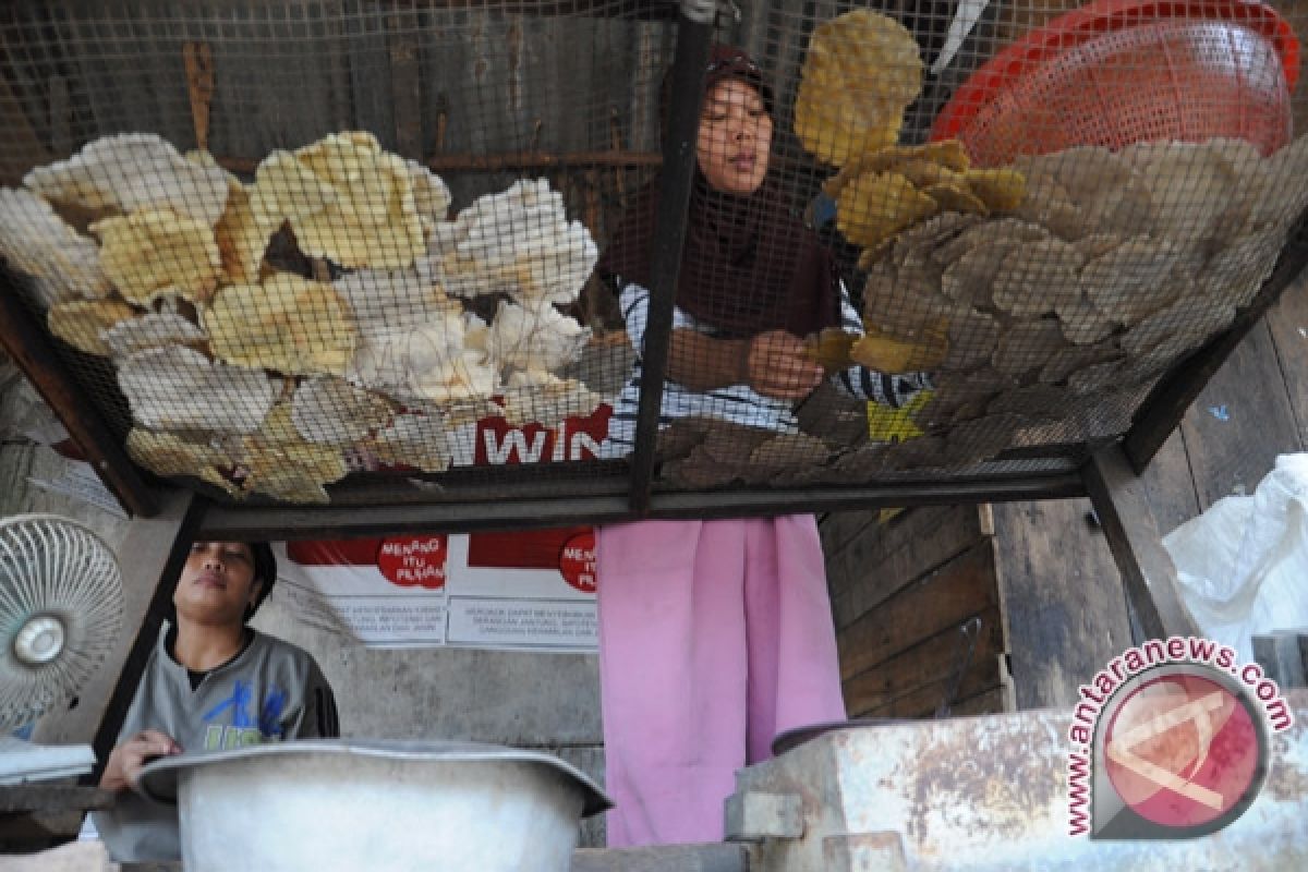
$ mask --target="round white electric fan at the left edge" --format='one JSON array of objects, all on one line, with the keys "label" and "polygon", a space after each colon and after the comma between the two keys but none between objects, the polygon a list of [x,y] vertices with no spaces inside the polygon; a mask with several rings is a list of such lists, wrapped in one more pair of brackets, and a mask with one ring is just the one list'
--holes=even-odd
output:
[{"label": "round white electric fan at the left edge", "polygon": [[0,735],[72,697],[122,625],[103,539],[58,515],[0,519]]}]

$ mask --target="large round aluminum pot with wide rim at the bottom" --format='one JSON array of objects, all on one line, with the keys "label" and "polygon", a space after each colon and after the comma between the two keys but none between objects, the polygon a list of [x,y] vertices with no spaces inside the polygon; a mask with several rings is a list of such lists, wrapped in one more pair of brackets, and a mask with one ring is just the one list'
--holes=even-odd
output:
[{"label": "large round aluminum pot with wide rim at the bottom", "polygon": [[612,803],[549,754],[475,743],[289,741],[149,763],[187,872],[566,872]]}]

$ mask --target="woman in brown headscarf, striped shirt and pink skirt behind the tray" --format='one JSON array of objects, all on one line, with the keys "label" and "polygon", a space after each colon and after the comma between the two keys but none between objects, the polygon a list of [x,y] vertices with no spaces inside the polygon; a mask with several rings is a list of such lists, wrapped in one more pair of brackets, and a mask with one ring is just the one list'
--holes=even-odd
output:
[{"label": "woman in brown headscarf, striped shirt and pink skirt behind the tray", "polygon": [[[708,416],[794,433],[794,404],[825,378],[802,337],[862,332],[770,157],[772,92],[743,51],[715,46],[661,426]],[[610,421],[610,456],[634,443],[657,208],[647,188],[599,264],[637,352]],[[896,407],[927,386],[861,367],[836,382]],[[606,784],[616,803],[608,843],[718,841],[736,769],[766,758],[778,732],[845,718],[816,522],[615,524],[599,529],[596,552]]]}]

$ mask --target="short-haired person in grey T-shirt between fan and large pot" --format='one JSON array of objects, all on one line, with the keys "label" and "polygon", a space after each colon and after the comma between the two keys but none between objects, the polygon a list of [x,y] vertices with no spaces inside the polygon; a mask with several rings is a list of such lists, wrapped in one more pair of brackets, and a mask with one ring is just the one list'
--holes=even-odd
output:
[{"label": "short-haired person in grey T-shirt between fan and large pot", "polygon": [[195,543],[101,787],[119,794],[94,816],[119,862],[181,856],[177,809],[129,790],[156,757],[340,735],[314,659],[247,622],[277,580],[267,543]]}]

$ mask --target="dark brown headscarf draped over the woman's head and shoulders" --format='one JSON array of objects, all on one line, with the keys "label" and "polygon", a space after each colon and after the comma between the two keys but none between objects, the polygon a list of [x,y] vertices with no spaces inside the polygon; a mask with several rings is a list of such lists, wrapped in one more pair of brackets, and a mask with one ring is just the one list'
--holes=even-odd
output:
[{"label": "dark brown headscarf draped over the woman's head and shoulders", "polygon": [[[770,111],[770,92],[753,61],[739,48],[714,46],[705,88],[725,78],[757,89]],[[657,180],[636,196],[600,258],[600,275],[650,286],[658,196]],[[696,167],[676,305],[725,339],[770,329],[802,337],[838,326],[835,261],[794,217],[794,205],[772,166],[748,196],[713,190]]]}]

